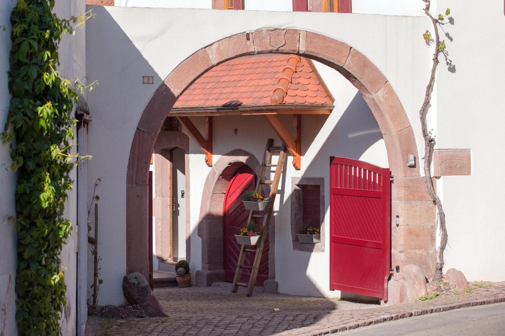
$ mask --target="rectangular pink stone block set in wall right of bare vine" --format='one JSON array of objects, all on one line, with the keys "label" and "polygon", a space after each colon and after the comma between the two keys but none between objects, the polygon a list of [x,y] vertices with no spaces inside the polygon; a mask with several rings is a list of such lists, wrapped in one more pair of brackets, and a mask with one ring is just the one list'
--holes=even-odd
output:
[{"label": "rectangular pink stone block set in wall right of bare vine", "polygon": [[472,173],[470,149],[435,149],[433,176],[460,176]]}]

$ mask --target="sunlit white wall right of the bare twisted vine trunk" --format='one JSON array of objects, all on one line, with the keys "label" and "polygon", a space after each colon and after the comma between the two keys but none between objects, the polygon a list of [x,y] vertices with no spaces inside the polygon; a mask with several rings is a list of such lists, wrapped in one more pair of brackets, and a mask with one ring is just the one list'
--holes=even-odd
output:
[{"label": "sunlit white wall right of the bare twisted vine trunk", "polygon": [[[479,2],[477,12],[474,4],[438,0],[437,12],[449,7],[454,18],[445,26],[453,42],[444,38],[456,68],[449,72],[442,59],[437,72],[437,147],[472,149],[471,176],[439,181],[449,235],[446,262],[469,280],[503,281],[505,16],[503,2]],[[475,20],[484,13],[485,20]]]}]

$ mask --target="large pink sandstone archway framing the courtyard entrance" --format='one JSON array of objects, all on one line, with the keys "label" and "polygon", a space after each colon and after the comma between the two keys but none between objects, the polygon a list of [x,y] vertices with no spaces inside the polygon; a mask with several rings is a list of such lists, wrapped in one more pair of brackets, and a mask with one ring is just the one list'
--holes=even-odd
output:
[{"label": "large pink sandstone archway framing the courtyard entrance", "polygon": [[[126,270],[147,274],[147,171],[160,128],[179,95],[201,74],[227,60],[249,54],[293,53],[319,61],[341,73],[359,89],[370,106],[385,141],[394,176],[392,213],[414,227],[392,230],[392,265],[417,264],[433,274],[436,213],[425,191],[419,167],[408,167],[409,153],[418,157],[414,131],[393,87],[359,50],[316,32],[263,28],[216,41],[191,54],[157,88],[137,125],[126,181]],[[418,160],[419,161],[419,160]],[[140,213],[140,214],[139,214]],[[135,214],[133,216],[133,214]],[[140,219],[140,221],[139,221]],[[144,234],[145,233],[145,234]],[[144,237],[145,236],[145,237]],[[422,237],[420,239],[419,237]]]}]

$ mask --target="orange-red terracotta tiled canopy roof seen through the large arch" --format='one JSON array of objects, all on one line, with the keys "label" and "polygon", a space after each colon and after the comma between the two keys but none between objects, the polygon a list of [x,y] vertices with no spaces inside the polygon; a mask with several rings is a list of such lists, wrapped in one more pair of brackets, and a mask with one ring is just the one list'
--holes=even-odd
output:
[{"label": "orange-red terracotta tiled canopy roof seen through the large arch", "polygon": [[268,104],[318,108],[333,101],[310,60],[268,54],[237,58],[212,68],[179,97],[173,108]]}]

